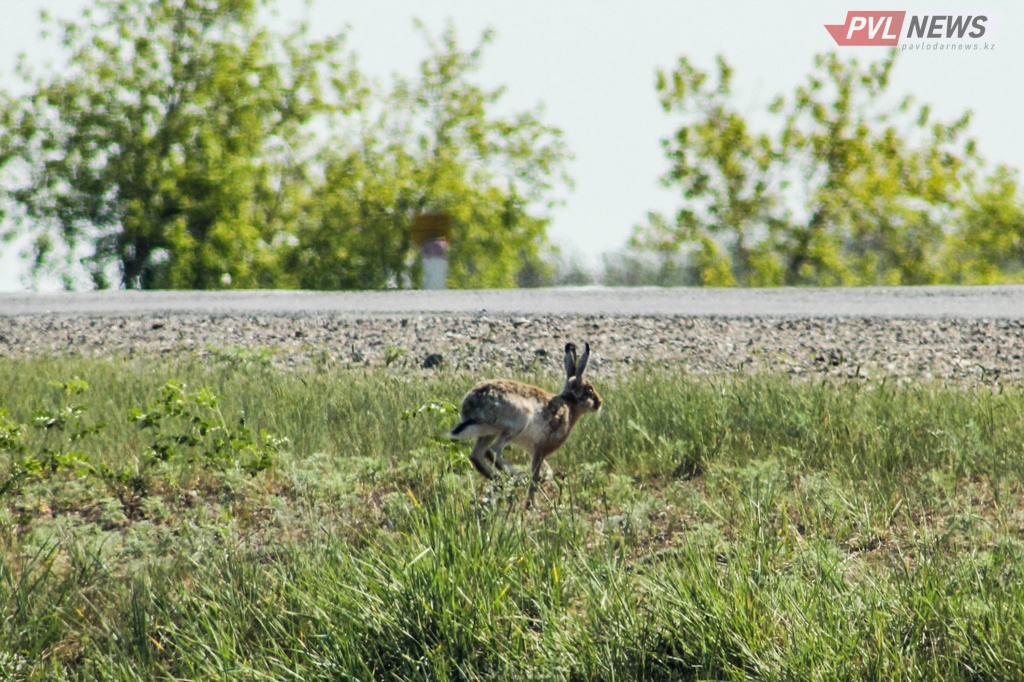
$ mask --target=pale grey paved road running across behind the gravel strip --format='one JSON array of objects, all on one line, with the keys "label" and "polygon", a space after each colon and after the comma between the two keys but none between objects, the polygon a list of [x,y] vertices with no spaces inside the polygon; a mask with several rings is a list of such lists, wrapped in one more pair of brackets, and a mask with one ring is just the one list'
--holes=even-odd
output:
[{"label": "pale grey paved road running across behind the gravel strip", "polygon": [[0,294],[0,315],[401,314],[1024,318],[1024,286]]}]

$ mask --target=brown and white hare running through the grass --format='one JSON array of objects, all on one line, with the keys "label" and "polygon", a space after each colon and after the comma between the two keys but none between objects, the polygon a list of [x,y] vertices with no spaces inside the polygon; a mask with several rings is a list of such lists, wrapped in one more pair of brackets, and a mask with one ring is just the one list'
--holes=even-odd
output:
[{"label": "brown and white hare running through the grass", "polygon": [[531,478],[526,507],[534,503],[534,493],[541,479],[541,468],[549,455],[562,446],[577,421],[587,413],[601,409],[601,396],[583,378],[590,359],[590,344],[584,344],[577,359],[577,347],[565,344],[565,385],[554,395],[511,379],[490,379],[473,386],[462,400],[462,422],[449,437],[476,438],[469,461],[487,478],[497,471],[515,473],[505,462],[502,451],[512,443],[532,456]]}]

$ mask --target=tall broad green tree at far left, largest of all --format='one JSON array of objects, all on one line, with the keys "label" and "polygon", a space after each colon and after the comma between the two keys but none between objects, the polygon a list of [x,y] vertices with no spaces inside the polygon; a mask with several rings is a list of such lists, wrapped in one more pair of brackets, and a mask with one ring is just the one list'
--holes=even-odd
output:
[{"label": "tall broad green tree at far left, largest of all", "polygon": [[342,36],[282,37],[257,0],[100,0],[59,25],[62,75],[3,105],[5,238],[35,274],[93,286],[274,285],[274,245],[317,121],[357,91]]}]

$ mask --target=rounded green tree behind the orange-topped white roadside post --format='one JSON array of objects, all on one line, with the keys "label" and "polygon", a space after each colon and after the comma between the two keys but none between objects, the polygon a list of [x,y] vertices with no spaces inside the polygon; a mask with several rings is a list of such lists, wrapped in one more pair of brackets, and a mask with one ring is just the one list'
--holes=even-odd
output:
[{"label": "rounded green tree behind the orange-topped white roadside post", "polygon": [[396,78],[361,123],[322,156],[316,186],[288,269],[310,289],[404,287],[419,276],[413,217],[452,217],[454,287],[512,287],[548,266],[546,216],[570,185],[563,135],[539,110],[498,116],[504,88],[473,83],[487,32],[466,51],[450,24],[418,78]]}]

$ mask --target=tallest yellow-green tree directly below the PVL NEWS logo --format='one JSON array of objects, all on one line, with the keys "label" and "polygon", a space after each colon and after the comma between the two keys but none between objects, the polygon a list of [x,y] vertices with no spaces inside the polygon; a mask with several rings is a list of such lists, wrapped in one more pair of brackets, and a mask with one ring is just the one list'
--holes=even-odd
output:
[{"label": "tallest yellow-green tree directly below the PVL NEWS logo", "polygon": [[[788,225],[785,284],[933,284],[954,207],[977,166],[970,112],[932,122],[904,97],[884,109],[896,52],[861,70],[835,53],[798,88],[778,145],[808,187]],[[823,72],[823,73],[822,73]],[[777,99],[771,111],[782,112]]]}]

